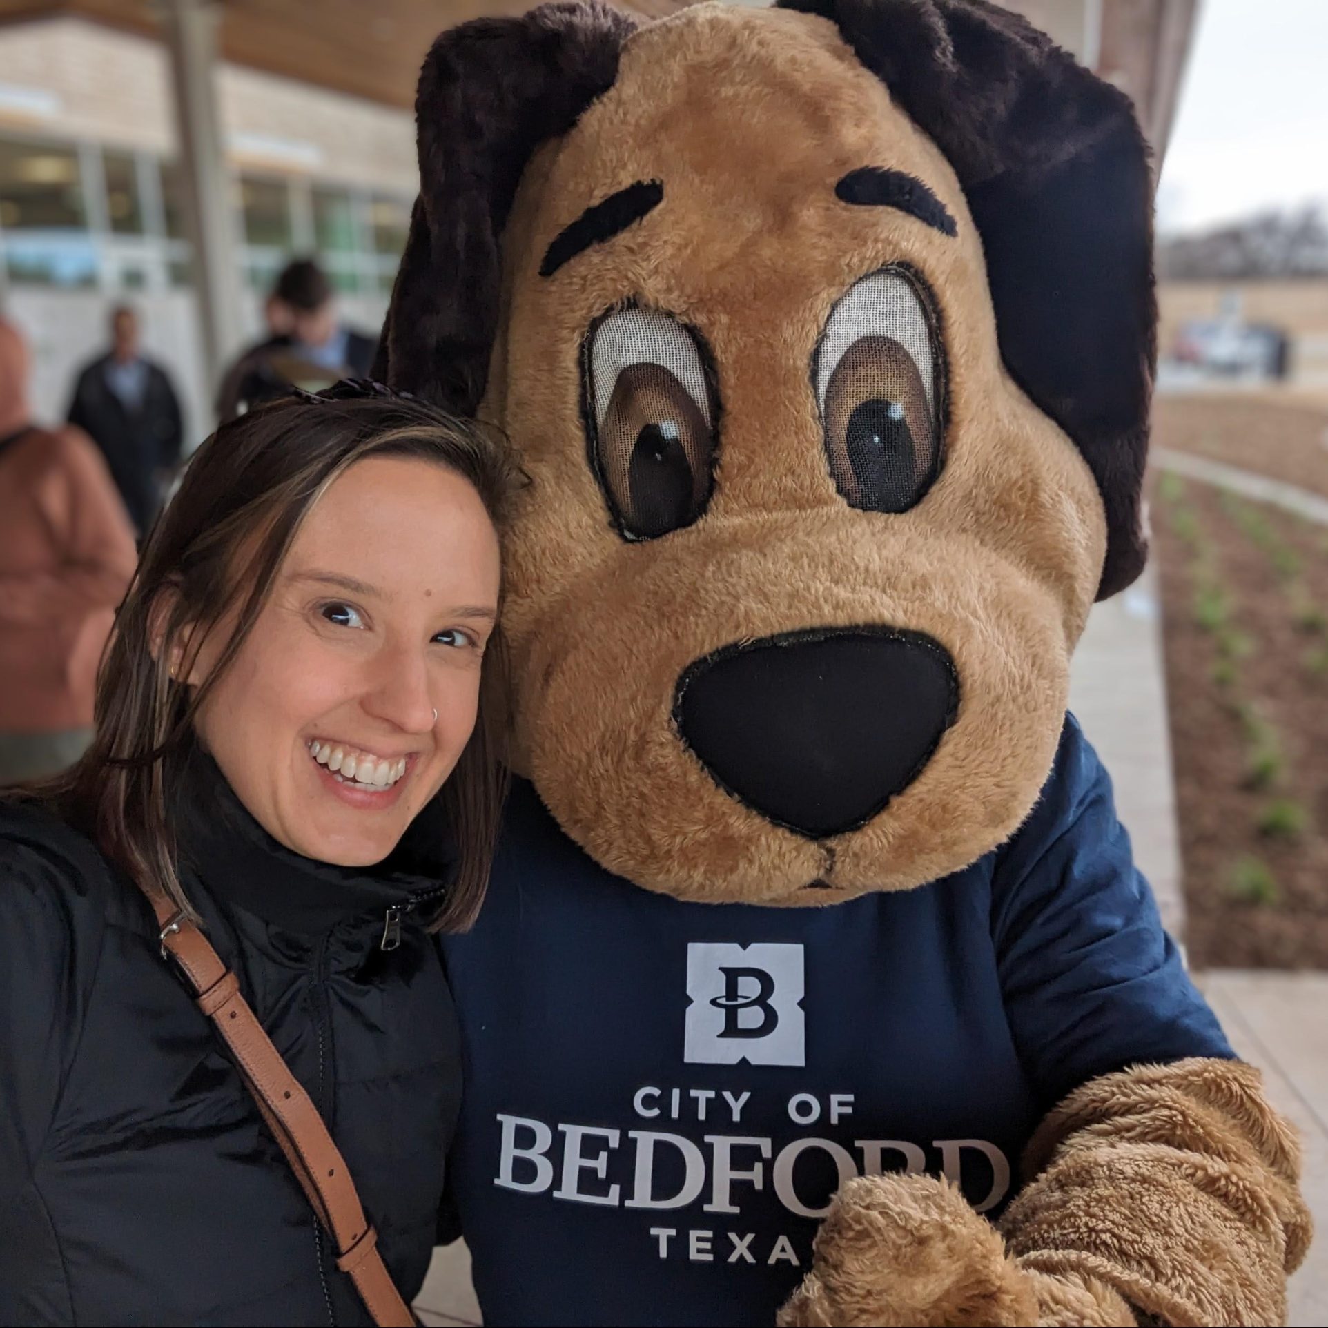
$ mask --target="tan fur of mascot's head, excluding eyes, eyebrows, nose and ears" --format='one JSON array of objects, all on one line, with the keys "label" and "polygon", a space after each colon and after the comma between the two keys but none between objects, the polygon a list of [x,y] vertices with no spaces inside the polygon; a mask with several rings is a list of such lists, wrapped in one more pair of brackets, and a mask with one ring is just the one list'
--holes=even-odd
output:
[{"label": "tan fur of mascot's head, excluding eyes, eyebrows, nose and ears", "polygon": [[[839,203],[835,182],[869,165],[926,181],[957,236]],[[655,212],[538,276],[564,226],[641,179],[664,185]],[[946,467],[900,515],[838,494],[810,380],[834,303],[892,262],[932,287],[950,364]],[[700,5],[633,36],[615,86],[527,167],[506,279],[481,413],[533,477],[507,548],[505,623],[519,764],[562,827],[639,886],[773,904],[916,886],[1007,839],[1050,768],[1101,570],[1101,501],[1001,367],[952,170],[838,31]],[[647,543],[611,527],[580,418],[583,337],[628,297],[705,336],[722,398],[709,511]],[[672,726],[673,689],[730,643],[863,624],[927,632],[950,651],[957,722],[879,815],[817,843],[718,789]],[[806,894],[817,878],[831,888]]]}]

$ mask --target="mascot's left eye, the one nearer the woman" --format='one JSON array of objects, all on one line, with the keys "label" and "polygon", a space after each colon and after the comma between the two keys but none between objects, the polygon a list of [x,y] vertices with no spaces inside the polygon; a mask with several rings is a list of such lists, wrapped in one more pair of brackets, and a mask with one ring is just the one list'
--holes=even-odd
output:
[{"label": "mascot's left eye, the one nearer the woman", "polygon": [[591,458],[618,529],[656,539],[691,526],[714,482],[716,397],[696,336],[657,309],[620,309],[587,348]]}]

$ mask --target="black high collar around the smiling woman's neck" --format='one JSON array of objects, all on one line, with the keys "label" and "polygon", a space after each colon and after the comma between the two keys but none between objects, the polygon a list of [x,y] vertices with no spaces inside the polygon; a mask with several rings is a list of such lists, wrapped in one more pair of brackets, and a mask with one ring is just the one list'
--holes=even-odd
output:
[{"label": "black high collar around the smiling woman's neck", "polygon": [[441,902],[456,875],[457,853],[437,802],[382,862],[337,867],[278,843],[203,753],[191,757],[179,781],[175,834],[182,866],[212,898],[304,936],[353,918],[381,918],[388,908]]}]

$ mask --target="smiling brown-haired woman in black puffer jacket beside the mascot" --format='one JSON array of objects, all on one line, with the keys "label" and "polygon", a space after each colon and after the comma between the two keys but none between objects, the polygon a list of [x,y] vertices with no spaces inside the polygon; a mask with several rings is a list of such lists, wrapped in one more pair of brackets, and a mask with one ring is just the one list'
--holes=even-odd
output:
[{"label": "smiling brown-haired woman in black puffer jacket beside the mascot", "polygon": [[428,932],[474,916],[499,815],[513,469],[357,392],[203,446],[89,752],[0,801],[0,1323],[372,1321],[149,894],[238,975],[400,1293],[425,1276],[461,1090]]}]

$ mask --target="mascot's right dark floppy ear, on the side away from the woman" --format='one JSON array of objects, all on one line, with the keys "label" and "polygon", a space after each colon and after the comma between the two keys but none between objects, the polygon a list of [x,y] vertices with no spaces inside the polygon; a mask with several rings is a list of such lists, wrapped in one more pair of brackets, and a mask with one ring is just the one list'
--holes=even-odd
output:
[{"label": "mascot's right dark floppy ear, on the side away from the woman", "polygon": [[1001,356],[1106,507],[1098,599],[1142,571],[1157,361],[1153,179],[1130,100],[1017,15],[972,0],[780,0],[839,27],[950,159],[987,254]]}]

